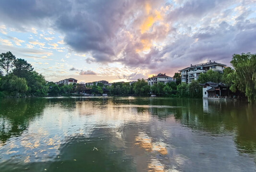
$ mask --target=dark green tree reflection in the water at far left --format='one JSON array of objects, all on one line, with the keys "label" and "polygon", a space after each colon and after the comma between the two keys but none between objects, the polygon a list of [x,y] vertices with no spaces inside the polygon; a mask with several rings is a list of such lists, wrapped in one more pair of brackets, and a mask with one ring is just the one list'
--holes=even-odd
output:
[{"label": "dark green tree reflection in the water at far left", "polygon": [[42,115],[46,103],[44,98],[0,99],[0,142],[19,136],[31,120]]}]

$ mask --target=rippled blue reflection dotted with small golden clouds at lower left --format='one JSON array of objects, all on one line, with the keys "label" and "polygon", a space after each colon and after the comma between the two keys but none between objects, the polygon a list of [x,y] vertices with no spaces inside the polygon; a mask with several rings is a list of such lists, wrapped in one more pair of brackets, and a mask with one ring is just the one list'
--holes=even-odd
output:
[{"label": "rippled blue reflection dotted with small golden clouds at lower left", "polygon": [[[12,140],[8,147],[3,147],[6,157],[16,157],[27,162],[48,161],[58,154],[61,140],[58,135],[49,138],[49,132],[42,128],[29,128],[22,134],[22,140]],[[6,150],[5,150],[6,149]],[[22,149],[23,151],[18,151]]]}]

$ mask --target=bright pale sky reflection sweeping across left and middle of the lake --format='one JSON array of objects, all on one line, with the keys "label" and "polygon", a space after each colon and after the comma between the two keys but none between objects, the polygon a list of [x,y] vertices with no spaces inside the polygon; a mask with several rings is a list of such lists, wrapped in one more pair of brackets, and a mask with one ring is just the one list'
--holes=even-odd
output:
[{"label": "bright pale sky reflection sweeping across left and middle of the lake", "polygon": [[[122,140],[122,130],[117,128],[126,123],[149,122],[151,119],[148,113],[138,115],[136,107],[112,107],[111,102],[102,106],[95,105],[94,101],[76,102],[75,108],[69,110],[56,103],[44,109],[43,118],[37,118],[30,124],[22,134],[22,140],[12,140],[12,144],[5,147],[8,150],[4,151],[10,153],[9,158],[22,156],[25,163],[49,161],[58,156],[58,149],[66,137],[83,135],[89,138],[95,129],[109,128],[117,139]],[[17,149],[23,149],[23,152]]]}]

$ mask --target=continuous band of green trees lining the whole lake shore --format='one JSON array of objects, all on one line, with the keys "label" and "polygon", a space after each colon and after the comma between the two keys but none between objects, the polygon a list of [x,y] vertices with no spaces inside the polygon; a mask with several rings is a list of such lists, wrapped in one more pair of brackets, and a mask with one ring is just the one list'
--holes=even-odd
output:
[{"label": "continuous band of green trees lining the whole lake shore", "polygon": [[158,97],[191,97],[202,98],[202,86],[199,83],[222,82],[229,87],[231,95],[246,97],[248,102],[256,101],[256,54],[233,54],[232,67],[227,67],[223,73],[212,70],[200,74],[198,80],[190,84],[181,83],[181,74],[175,73],[175,82],[157,83],[149,86],[146,80],[138,79],[133,84],[112,83],[104,86],[98,83],[94,86],[80,84],[55,85],[37,73],[31,64],[24,59],[16,58],[11,52],[0,54],[0,97],[57,97],[81,96],[77,93],[109,96],[150,96]]}]

